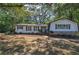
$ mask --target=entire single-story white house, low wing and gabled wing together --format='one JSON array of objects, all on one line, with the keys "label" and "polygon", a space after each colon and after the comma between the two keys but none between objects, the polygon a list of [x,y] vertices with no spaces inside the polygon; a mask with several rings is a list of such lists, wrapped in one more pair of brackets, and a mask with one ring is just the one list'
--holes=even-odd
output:
[{"label": "entire single-story white house, low wing and gabled wing together", "polygon": [[17,24],[16,33],[40,33],[49,32],[56,34],[73,34],[78,32],[76,22],[69,19],[58,19],[46,24]]}]

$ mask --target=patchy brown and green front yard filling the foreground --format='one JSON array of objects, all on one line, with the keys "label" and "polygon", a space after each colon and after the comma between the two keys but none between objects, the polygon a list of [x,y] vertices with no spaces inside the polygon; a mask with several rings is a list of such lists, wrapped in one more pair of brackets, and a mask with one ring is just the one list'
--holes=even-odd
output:
[{"label": "patchy brown and green front yard filling the foreground", "polygon": [[0,55],[29,54],[79,55],[79,43],[45,35],[0,35]]}]

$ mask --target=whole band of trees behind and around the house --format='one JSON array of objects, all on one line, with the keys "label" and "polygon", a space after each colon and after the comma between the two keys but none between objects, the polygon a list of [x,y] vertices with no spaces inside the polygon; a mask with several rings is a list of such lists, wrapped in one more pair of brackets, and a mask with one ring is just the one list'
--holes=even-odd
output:
[{"label": "whole band of trees behind and around the house", "polygon": [[0,4],[0,32],[14,33],[15,25],[48,24],[68,18],[79,24],[78,3],[5,3]]}]

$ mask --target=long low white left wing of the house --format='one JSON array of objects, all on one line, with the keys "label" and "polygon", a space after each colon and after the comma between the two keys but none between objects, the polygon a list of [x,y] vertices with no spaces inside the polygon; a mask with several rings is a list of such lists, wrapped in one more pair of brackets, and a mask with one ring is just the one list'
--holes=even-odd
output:
[{"label": "long low white left wing of the house", "polygon": [[48,26],[46,24],[17,24],[16,33],[40,33],[46,32]]}]

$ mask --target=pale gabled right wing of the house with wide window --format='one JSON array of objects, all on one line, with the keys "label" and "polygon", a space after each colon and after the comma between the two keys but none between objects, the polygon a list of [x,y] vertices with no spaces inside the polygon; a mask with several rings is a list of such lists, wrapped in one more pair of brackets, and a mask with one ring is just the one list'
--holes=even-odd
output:
[{"label": "pale gabled right wing of the house with wide window", "polygon": [[78,25],[69,19],[59,19],[49,23],[49,32],[56,34],[73,34],[78,32]]}]

